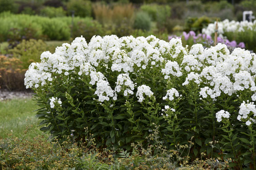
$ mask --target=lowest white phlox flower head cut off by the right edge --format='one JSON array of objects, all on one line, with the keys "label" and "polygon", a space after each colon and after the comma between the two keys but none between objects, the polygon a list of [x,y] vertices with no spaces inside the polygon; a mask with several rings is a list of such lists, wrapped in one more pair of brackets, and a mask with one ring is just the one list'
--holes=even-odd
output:
[{"label": "lowest white phlox flower head cut off by the right edge", "polygon": [[[255,123],[256,120],[256,107],[255,105],[250,102],[248,103],[249,101],[247,101],[247,103],[245,103],[245,101],[240,105],[240,110],[239,110],[239,115],[238,115],[238,120],[241,121],[241,118],[242,119],[245,119],[247,120],[246,121],[246,125],[249,126],[251,123]],[[253,117],[249,117],[249,114],[252,113]]]}]

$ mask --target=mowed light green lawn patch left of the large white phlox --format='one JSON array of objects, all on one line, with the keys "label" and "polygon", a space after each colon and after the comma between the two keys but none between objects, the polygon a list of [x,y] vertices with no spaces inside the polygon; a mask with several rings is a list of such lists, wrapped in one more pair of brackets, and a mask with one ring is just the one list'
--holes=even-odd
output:
[{"label": "mowed light green lawn patch left of the large white phlox", "polygon": [[8,137],[30,137],[42,134],[35,110],[39,109],[32,99],[13,99],[0,101],[0,139]]}]

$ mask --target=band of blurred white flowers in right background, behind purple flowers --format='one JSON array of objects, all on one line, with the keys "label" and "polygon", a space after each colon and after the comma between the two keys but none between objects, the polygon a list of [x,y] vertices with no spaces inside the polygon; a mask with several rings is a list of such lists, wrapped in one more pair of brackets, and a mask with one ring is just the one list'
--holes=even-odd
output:
[{"label": "band of blurred white flowers in right background, behind purple flowers", "polygon": [[[215,26],[216,26],[216,21],[215,23],[210,23],[207,28],[204,28],[202,30],[203,34],[206,35],[212,35],[215,33]],[[249,21],[229,21],[228,19],[225,19],[223,21],[218,21],[218,34],[220,37],[223,38],[223,34],[225,32],[244,32],[245,29],[256,31],[256,20],[253,22]]]}]

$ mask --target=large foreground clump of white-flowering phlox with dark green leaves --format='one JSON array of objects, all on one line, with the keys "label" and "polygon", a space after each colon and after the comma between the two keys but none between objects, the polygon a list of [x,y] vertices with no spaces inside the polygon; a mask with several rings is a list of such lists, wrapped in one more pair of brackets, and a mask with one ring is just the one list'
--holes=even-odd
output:
[{"label": "large foreground clump of white-flowering phlox with dark green leaves", "polygon": [[[83,37],[44,52],[25,85],[36,93],[41,128],[59,141],[69,136],[99,148],[146,146],[157,127],[162,145],[188,144],[190,160],[232,158],[255,168],[256,55],[225,44],[195,44],[155,36]],[[84,129],[88,129],[85,131]]]}]

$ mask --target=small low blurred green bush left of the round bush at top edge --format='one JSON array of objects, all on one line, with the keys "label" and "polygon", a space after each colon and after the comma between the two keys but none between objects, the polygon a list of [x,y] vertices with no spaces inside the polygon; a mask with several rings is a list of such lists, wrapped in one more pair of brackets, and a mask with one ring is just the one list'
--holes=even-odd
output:
[{"label": "small low blurred green bush left of the round bush at top edge", "polygon": [[41,9],[40,15],[53,18],[53,17],[65,16],[66,11],[64,11],[62,7],[58,7],[58,8],[45,7]]}]

